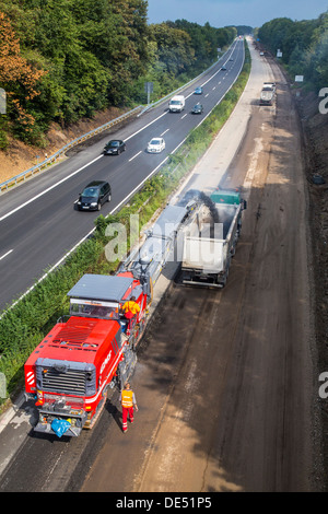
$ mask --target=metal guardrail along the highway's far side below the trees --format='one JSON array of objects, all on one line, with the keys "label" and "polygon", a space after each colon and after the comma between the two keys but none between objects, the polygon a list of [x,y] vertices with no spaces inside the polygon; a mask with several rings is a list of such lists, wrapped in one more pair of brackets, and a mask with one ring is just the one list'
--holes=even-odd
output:
[{"label": "metal guardrail along the highway's far side below the trees", "polygon": [[119,116],[118,118],[116,119],[113,119],[104,125],[102,125],[101,127],[97,127],[93,130],[91,130],[90,132],[86,132],[84,133],[83,136],[80,136],[79,138],[77,139],[73,139],[72,141],[70,141],[68,144],[66,144],[65,147],[62,147],[60,150],[58,150],[57,152],[55,152],[52,155],[50,155],[50,157],[47,157],[45,161],[40,162],[39,164],[36,164],[35,166],[26,170],[25,172],[22,172],[20,173],[19,175],[15,175],[14,177],[12,178],[9,178],[8,180],[3,182],[0,184],[0,194],[3,192],[3,191],[7,191],[9,187],[13,187],[13,186],[16,186],[19,183],[21,182],[24,182],[26,178],[30,178],[30,177],[33,177],[34,174],[36,173],[39,173],[43,168],[54,164],[57,159],[59,159],[62,154],[65,154],[68,150],[70,150],[71,148],[73,147],[77,147],[78,144],[80,144],[81,142],[83,141],[86,141],[87,139],[90,138],[93,138],[94,136],[96,136],[97,133],[101,133],[105,130],[107,130],[108,128],[119,124],[120,121],[124,121],[125,119],[129,118],[130,116],[132,116],[133,114],[136,114],[138,110],[140,110],[140,113],[138,114],[138,116],[141,116],[143,113],[145,113],[147,110],[149,110],[150,108],[156,106],[156,105],[160,105],[161,103],[165,102],[166,100],[168,100],[172,95],[175,95],[177,93],[179,93],[180,91],[185,90],[186,87],[188,87],[189,85],[191,85],[194,82],[196,82],[198,79],[200,79],[202,75],[204,75],[209,70],[211,70],[214,66],[218,65],[219,60],[222,59],[222,57],[225,56],[225,54],[227,54],[230,51],[231,47],[218,59],[216,62],[214,62],[212,66],[210,66],[210,68],[208,68],[207,70],[204,70],[202,73],[200,73],[198,77],[196,77],[195,79],[191,79],[189,82],[187,82],[186,84],[181,85],[180,87],[178,87],[177,90],[173,91],[172,93],[167,94],[166,96],[164,96],[163,98],[152,103],[152,104],[149,104],[147,105],[145,107],[143,105],[139,105],[138,107],[136,107],[134,109],[132,110],[129,110],[128,113]]}]

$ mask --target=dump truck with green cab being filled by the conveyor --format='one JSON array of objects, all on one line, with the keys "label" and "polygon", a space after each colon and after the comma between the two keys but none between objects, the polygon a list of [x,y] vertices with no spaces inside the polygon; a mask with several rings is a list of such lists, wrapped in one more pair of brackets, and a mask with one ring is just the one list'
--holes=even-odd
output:
[{"label": "dump truck with green cab being filled by the conveyor", "polygon": [[181,276],[184,284],[224,288],[235,255],[246,202],[238,191],[219,190],[185,234]]}]

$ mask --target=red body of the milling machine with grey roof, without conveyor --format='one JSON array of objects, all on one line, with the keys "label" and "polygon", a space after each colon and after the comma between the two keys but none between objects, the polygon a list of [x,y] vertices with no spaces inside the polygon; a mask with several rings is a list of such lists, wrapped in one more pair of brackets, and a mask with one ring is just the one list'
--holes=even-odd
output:
[{"label": "red body of the milling machine with grey roof, without conveyor", "polygon": [[[68,293],[71,316],[59,320],[25,363],[25,390],[35,397],[35,430],[52,433],[54,420],[66,420],[65,435],[93,427],[108,386],[128,378],[147,315],[147,295],[131,273],[84,276]],[[140,313],[132,327],[120,307],[136,296]],[[121,384],[120,384],[121,385]]]}]

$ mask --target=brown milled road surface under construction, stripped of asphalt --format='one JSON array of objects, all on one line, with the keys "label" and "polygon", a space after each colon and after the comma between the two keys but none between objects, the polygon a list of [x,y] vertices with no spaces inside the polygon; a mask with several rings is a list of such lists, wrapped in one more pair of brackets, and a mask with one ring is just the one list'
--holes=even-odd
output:
[{"label": "brown milled road surface under construction, stripped of asphalt", "polygon": [[[244,184],[248,199],[226,287],[186,288],[178,274],[171,283],[138,352],[132,388],[139,412],[127,434],[117,392],[94,430],[81,437],[57,440],[25,429],[3,468],[0,491],[128,497],[323,488],[314,483],[319,455],[313,440],[311,250],[300,127],[279,69],[251,54],[251,77],[230,120],[242,122],[248,106],[235,159],[223,176],[215,175],[218,145],[222,156],[221,138],[235,133],[233,121],[204,157],[207,172],[212,159],[207,179]],[[277,104],[259,107],[259,84],[269,72],[278,82]],[[201,186],[201,167],[186,188]],[[22,409],[21,425],[31,418]],[[10,425],[2,431],[0,449],[12,433]]]}]

